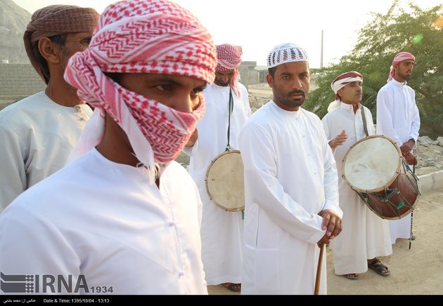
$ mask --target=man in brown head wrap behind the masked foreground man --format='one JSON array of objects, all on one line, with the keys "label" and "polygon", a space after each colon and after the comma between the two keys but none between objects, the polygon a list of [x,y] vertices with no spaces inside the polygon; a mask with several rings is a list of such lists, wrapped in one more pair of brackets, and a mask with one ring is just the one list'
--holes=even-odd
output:
[{"label": "man in brown head wrap behind the masked foreground man", "polygon": [[0,112],[0,212],[65,166],[91,117],[63,72],[74,53],[88,48],[97,21],[94,8],[78,6],[46,6],[32,14],[23,41],[46,89]]}]

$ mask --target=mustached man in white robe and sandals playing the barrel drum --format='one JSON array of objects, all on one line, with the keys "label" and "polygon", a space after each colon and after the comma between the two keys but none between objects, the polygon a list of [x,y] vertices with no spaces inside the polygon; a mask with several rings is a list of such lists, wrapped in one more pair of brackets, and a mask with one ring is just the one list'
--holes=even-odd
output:
[{"label": "mustached man in white robe and sandals playing the barrel drum", "polygon": [[340,236],[331,241],[330,246],[335,274],[348,279],[359,279],[359,273],[366,272],[368,267],[384,276],[390,274],[376,256],[392,254],[387,220],[375,215],[342,178],[342,161],[349,148],[366,136],[375,134],[371,111],[360,103],[362,84],[363,76],[359,72],[345,72],[337,76],[330,84],[335,101],[321,119],[337,163],[344,225]]}]

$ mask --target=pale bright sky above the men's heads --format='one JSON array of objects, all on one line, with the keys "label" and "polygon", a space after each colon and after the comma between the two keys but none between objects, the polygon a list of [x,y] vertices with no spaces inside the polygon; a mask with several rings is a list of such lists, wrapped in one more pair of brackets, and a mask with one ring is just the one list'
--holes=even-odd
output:
[{"label": "pale bright sky above the men's heads", "polygon": [[[1,1],[1,0],[0,0]],[[51,4],[93,7],[98,13],[115,0],[13,0],[30,13]],[[387,13],[393,0],[173,0],[194,13],[209,29],[215,44],[242,46],[243,60],[265,65],[271,49],[294,43],[309,55],[309,65],[320,67],[321,30],[323,65],[337,63],[357,43],[358,31],[373,18]],[[406,0],[401,0],[407,3]],[[443,0],[412,0],[421,8]]]}]

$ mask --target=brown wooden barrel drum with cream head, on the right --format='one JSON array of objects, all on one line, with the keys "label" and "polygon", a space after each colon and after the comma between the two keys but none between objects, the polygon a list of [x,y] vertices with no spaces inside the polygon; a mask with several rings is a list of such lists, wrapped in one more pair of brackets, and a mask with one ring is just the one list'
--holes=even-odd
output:
[{"label": "brown wooden barrel drum with cream head, on the right", "polygon": [[342,170],[347,184],[383,219],[408,215],[421,194],[420,182],[400,148],[383,135],[369,136],[352,145]]}]

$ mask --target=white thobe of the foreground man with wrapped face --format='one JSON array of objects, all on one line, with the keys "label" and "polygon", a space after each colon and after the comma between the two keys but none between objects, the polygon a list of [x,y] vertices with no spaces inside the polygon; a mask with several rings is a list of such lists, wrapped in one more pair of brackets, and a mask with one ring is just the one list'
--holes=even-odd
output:
[{"label": "white thobe of the foreground man with wrapped face", "polygon": [[160,189],[146,172],[92,149],[23,192],[0,215],[1,272],[83,274],[89,293],[207,294],[198,189],[176,162]]}]

